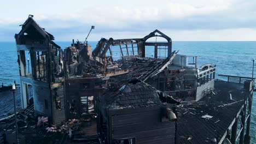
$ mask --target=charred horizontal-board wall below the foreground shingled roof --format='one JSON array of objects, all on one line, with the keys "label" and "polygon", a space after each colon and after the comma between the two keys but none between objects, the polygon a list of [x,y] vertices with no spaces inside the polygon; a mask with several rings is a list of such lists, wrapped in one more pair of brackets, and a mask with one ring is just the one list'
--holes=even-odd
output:
[{"label": "charred horizontal-board wall below the foreground shingled roof", "polygon": [[161,122],[160,107],[133,109],[112,116],[112,140],[135,137],[136,143],[174,143],[175,122]]}]

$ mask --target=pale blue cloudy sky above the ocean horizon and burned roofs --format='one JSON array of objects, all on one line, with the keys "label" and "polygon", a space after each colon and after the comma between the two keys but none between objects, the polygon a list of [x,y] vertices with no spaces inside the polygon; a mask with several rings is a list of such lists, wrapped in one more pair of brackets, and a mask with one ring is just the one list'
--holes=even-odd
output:
[{"label": "pale blue cloudy sky above the ocean horizon and burned roofs", "polygon": [[173,41],[255,41],[256,1],[12,0],[1,2],[0,41],[14,41],[28,15],[55,41],[142,38],[155,29]]}]

